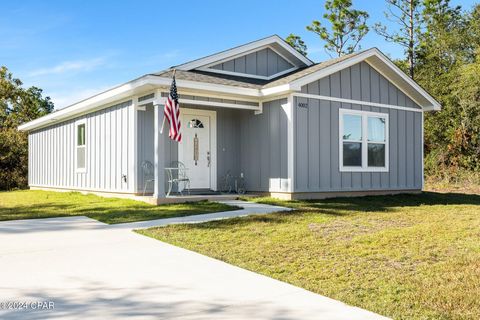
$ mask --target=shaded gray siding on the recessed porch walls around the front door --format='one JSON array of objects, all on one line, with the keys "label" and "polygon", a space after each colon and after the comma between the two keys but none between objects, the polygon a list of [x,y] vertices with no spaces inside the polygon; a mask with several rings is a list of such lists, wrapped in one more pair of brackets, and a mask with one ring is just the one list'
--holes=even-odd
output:
[{"label": "shaded gray siding on the recessed porch walls around the front door", "polygon": [[[204,101],[205,98],[201,99]],[[263,113],[259,115],[250,110],[182,105],[184,108],[214,110],[217,113],[217,188],[227,173],[234,177],[243,173],[249,191],[268,192],[271,188],[287,191],[288,120],[282,108],[286,101],[282,99],[264,103]],[[139,190],[143,190],[144,186],[140,164],[144,160],[153,163],[153,119],[151,105],[147,106],[145,111],[138,112]],[[164,160],[168,166],[172,161],[178,160],[178,145],[171,141],[167,134],[163,137]],[[149,185],[147,190],[152,192],[153,189]]]}]

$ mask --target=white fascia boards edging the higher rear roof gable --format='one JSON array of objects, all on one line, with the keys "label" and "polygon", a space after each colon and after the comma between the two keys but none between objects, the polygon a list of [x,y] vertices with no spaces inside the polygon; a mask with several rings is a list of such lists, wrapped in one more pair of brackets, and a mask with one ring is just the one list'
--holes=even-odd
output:
[{"label": "white fascia boards edging the higher rear roof gable", "polygon": [[197,59],[197,60],[194,60],[194,61],[191,61],[191,62],[187,62],[187,63],[181,64],[181,65],[178,65],[178,66],[176,66],[176,69],[178,69],[178,70],[196,69],[196,68],[199,68],[199,67],[203,67],[205,65],[215,63],[216,61],[225,60],[225,59],[228,59],[230,57],[234,57],[234,56],[243,54],[245,52],[253,51],[253,50],[255,50],[259,47],[264,47],[264,46],[267,46],[267,45],[272,44],[272,43],[277,43],[278,45],[280,45],[284,49],[288,50],[291,54],[293,54],[297,59],[299,59],[300,61],[305,63],[307,66],[311,66],[313,64],[313,62],[310,59],[308,59],[307,57],[305,57],[304,55],[299,53],[297,50],[292,48],[289,44],[287,44],[279,36],[273,35],[273,36],[270,36],[268,38],[261,39],[261,40],[258,40],[258,41],[254,41],[254,42],[251,42],[251,43],[248,43],[248,44],[245,44],[245,45],[242,45],[242,46],[230,49],[230,50],[226,50],[226,51],[223,51],[223,52],[212,54],[212,55],[207,56],[205,58],[200,58],[200,59]]}]

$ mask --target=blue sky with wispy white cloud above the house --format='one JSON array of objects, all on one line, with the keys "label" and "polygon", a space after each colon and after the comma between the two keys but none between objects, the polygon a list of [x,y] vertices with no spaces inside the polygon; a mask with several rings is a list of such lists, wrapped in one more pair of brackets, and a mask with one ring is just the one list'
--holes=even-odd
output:
[{"label": "blue sky with wispy white cloud above the house", "polygon": [[[452,0],[469,9],[474,0]],[[44,89],[61,108],[145,73],[271,34],[301,35],[314,61],[328,58],[305,26],[323,0],[2,1],[0,65]],[[383,0],[354,0],[385,20]],[[392,57],[402,49],[370,32],[363,48]]]}]

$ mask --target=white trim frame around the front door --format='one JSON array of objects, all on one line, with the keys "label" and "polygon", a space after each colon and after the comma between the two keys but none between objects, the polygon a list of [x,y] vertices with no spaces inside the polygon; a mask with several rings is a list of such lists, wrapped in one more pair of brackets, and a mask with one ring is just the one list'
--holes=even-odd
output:
[{"label": "white trim frame around the front door", "polygon": [[[217,111],[180,108],[180,114],[186,112],[188,114],[201,115],[210,117],[210,189],[217,191]],[[182,126],[185,126],[182,123]],[[183,159],[183,148],[178,148],[178,159]]]}]

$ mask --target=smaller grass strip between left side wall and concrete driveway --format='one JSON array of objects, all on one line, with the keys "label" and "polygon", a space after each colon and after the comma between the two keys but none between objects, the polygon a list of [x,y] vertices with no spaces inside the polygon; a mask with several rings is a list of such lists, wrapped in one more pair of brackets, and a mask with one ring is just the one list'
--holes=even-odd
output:
[{"label": "smaller grass strip between left side wall and concrete driveway", "polygon": [[114,224],[235,209],[238,208],[209,201],[154,206],[135,200],[103,198],[78,192],[0,192],[0,221],[87,216]]}]

